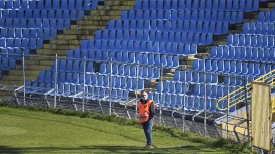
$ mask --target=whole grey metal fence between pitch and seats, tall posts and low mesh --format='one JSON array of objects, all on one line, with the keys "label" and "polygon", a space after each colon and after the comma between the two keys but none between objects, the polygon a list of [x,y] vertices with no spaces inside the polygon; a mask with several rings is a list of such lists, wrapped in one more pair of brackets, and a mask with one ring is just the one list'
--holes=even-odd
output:
[{"label": "whole grey metal fence between pitch and seats, tall posts and low mesh", "polygon": [[[229,85],[229,78],[235,78],[236,80],[238,79],[242,83],[247,83],[248,81],[243,78],[238,78],[233,75],[229,74],[223,74],[223,73],[212,73],[212,72],[206,72],[205,68],[203,71],[199,70],[190,70],[185,67],[185,69],[178,69],[178,68],[171,68],[171,67],[164,67],[164,66],[154,66],[154,65],[144,65],[140,64],[139,61],[137,63],[122,63],[118,61],[112,61],[111,60],[95,60],[95,59],[86,59],[84,57],[83,59],[79,58],[65,58],[65,57],[59,57],[59,56],[39,56],[39,55],[22,55],[20,54],[1,54],[1,55],[7,55],[7,56],[21,56],[22,57],[22,69],[19,68],[17,71],[22,71],[22,76],[23,76],[23,85],[17,85],[17,86],[12,86],[12,85],[0,85],[0,90],[2,91],[12,91],[13,95],[9,97],[1,97],[1,100],[3,103],[12,104],[12,105],[20,105],[20,106],[41,106],[41,107],[52,107],[52,108],[62,108],[62,109],[69,109],[69,110],[76,110],[76,111],[89,111],[91,113],[98,113],[98,114],[117,114],[122,117],[127,117],[130,119],[135,119],[137,118],[137,108],[136,108],[136,102],[138,100],[138,94],[141,89],[138,89],[138,83],[139,80],[142,79],[142,77],[139,75],[139,67],[149,67],[149,68],[158,68],[159,69],[159,77],[154,79],[155,81],[160,82],[160,101],[158,103],[158,110],[157,110],[157,117],[156,121],[159,124],[163,125],[168,125],[171,127],[177,127],[181,128],[183,130],[189,130],[193,131],[196,133],[199,133],[203,136],[211,136],[211,137],[225,137],[224,134],[226,134],[227,138],[232,138],[236,139],[237,137],[231,137],[232,135],[235,136],[236,132],[230,132],[228,125],[227,128],[219,128],[215,126],[215,122],[217,118],[221,117],[226,117],[225,122],[226,124],[230,123],[230,113],[229,110],[227,110],[225,113],[223,112],[217,112],[216,111],[211,111],[209,108],[207,108],[206,104],[206,98],[207,98],[207,91],[206,91],[206,86],[211,85],[211,83],[207,83],[207,75],[217,75],[217,80],[222,80],[225,81],[227,84],[226,85],[219,85],[224,86],[224,88],[227,90],[227,94],[229,94],[230,88],[236,89],[238,87],[235,86],[230,86]],[[28,57],[28,59],[26,59]],[[30,67],[31,64],[25,64],[26,60],[29,59],[39,59],[39,60],[51,60],[53,61],[53,66],[51,67],[50,70],[54,72],[54,87],[50,89],[45,89],[45,88],[39,88],[39,87],[30,87],[26,86],[26,75],[25,75],[25,68]],[[80,84],[79,86],[82,86],[82,91],[80,93],[77,93],[73,96],[70,97],[61,97],[57,96],[59,89],[57,88],[57,74],[58,74],[58,60],[78,60],[81,61],[84,67],[82,67],[82,74],[83,74],[83,83]],[[85,79],[86,79],[86,74],[87,70],[91,68],[86,68],[88,63],[94,63],[97,64],[97,66],[100,66],[100,64],[105,63],[109,64],[110,66],[110,71],[108,74],[105,74],[106,76],[109,76],[109,94],[105,94],[102,99],[100,100],[91,100],[89,96],[93,94],[87,94],[85,89],[87,88],[88,85],[85,84]],[[128,102],[120,103],[120,102],[114,102],[112,97],[112,76],[114,76],[112,72],[112,66],[114,65],[129,65],[129,66],[135,66],[136,67],[136,76],[132,77],[136,79],[136,88],[131,91],[131,94],[129,95]],[[95,72],[98,72],[99,67],[94,67]],[[166,75],[166,73],[169,73],[171,70],[179,70],[184,73],[184,80],[181,81],[184,83],[184,91],[185,93],[182,94],[182,105],[178,108],[164,108],[163,103],[163,97],[164,95],[162,93],[163,91],[163,76]],[[203,81],[200,81],[199,83],[196,82],[188,82],[186,81],[186,76],[187,72],[192,71],[196,73],[201,73],[203,74]],[[95,73],[97,74],[97,73]],[[217,81],[219,82],[219,81]],[[186,93],[187,89],[187,83],[191,83],[193,85],[195,84],[201,84],[204,86],[204,102],[203,102],[203,108],[195,108],[195,109],[189,109],[190,106],[187,106],[186,102],[186,97],[188,94]],[[151,80],[147,79],[145,81],[145,88],[150,89],[150,91],[155,91],[151,87]],[[27,89],[27,90],[26,90]],[[36,93],[32,94],[30,89],[33,89],[33,91],[36,91]],[[40,94],[37,93],[37,91],[43,91]],[[70,93],[71,91],[67,91]],[[54,94],[54,95],[49,95],[49,94]],[[108,99],[109,98],[109,99]],[[92,102],[92,103],[91,103]],[[119,105],[120,104],[120,105]],[[121,104],[123,107],[121,107]],[[246,102],[247,106],[249,105],[249,102]],[[120,106],[120,107],[115,107],[115,106]],[[127,106],[131,106],[131,109],[127,109]],[[237,107],[238,109],[240,107]],[[230,117],[230,118],[229,118]],[[244,121],[249,121],[249,117],[246,117],[246,119],[243,119]],[[195,128],[195,129],[194,129]],[[231,135],[232,134],[232,135]],[[240,134],[241,136],[241,134]],[[243,139],[246,138],[245,135],[241,137]]]}]

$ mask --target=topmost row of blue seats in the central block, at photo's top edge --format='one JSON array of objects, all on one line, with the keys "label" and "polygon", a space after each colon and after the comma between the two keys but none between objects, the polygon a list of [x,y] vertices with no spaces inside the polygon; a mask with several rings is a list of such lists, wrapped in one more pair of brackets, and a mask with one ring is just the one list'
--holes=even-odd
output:
[{"label": "topmost row of blue seats in the central block, at photo's top edge", "polygon": [[136,10],[214,10],[251,12],[259,10],[259,0],[137,0]]}]

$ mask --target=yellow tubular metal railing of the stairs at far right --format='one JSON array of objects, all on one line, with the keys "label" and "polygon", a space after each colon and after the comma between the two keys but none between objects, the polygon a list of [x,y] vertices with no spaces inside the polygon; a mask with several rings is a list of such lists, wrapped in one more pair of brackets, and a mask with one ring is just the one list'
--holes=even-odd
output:
[{"label": "yellow tubular metal railing of the stairs at far right", "polygon": [[[275,70],[272,70],[269,73],[259,77],[255,81],[263,81],[270,85],[274,85],[275,84]],[[218,101],[216,102],[217,109],[219,109],[221,111],[226,111],[228,108],[230,109],[230,108],[240,104],[241,102],[244,102],[245,101],[245,92],[246,92],[246,99],[249,99],[251,97],[250,83],[246,84],[246,90],[245,90],[245,86],[242,86],[242,87],[238,88],[237,90],[232,91],[228,95],[218,99]],[[221,103],[223,101],[227,101],[227,100],[229,100],[228,107],[222,108],[219,106],[219,103]],[[275,113],[275,108],[272,110],[272,112]]]}]

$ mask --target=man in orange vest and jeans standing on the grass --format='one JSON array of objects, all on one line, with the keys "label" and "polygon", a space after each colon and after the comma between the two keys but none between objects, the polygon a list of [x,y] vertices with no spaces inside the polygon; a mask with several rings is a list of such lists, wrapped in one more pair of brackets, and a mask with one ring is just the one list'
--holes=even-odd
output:
[{"label": "man in orange vest and jeans standing on the grass", "polygon": [[141,91],[142,99],[140,99],[137,104],[139,109],[139,122],[142,124],[144,134],[146,136],[147,144],[146,149],[153,148],[152,146],[152,129],[154,125],[154,115],[155,115],[155,102],[148,100],[147,92]]}]

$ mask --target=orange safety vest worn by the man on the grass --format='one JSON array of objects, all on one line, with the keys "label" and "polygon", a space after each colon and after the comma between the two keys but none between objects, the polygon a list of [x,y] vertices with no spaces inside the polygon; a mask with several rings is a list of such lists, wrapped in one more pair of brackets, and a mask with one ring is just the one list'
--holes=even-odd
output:
[{"label": "orange safety vest worn by the man on the grass", "polygon": [[154,104],[155,107],[155,102],[149,100],[147,103],[142,104],[141,102],[139,102],[139,104],[137,104],[137,108],[139,109],[139,123],[140,124],[144,124],[145,122],[147,122],[149,120],[149,108],[151,103]]}]

